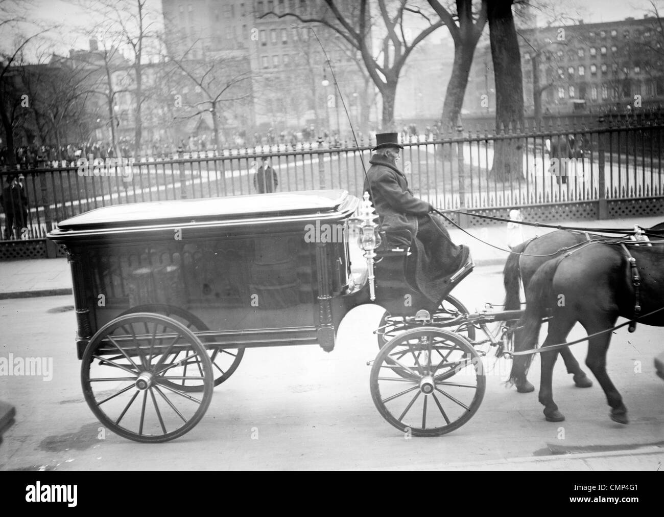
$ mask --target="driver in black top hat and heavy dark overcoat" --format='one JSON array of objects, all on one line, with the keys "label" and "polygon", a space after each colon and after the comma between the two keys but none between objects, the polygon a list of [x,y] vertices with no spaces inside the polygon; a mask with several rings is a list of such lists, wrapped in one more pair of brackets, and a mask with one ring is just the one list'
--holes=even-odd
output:
[{"label": "driver in black top hat and heavy dark overcoat", "polygon": [[380,217],[388,247],[418,245],[426,255],[426,268],[447,276],[466,264],[468,249],[454,245],[442,217],[430,213],[434,207],[408,189],[408,181],[397,166],[402,149],[396,132],[376,134],[364,190]]}]

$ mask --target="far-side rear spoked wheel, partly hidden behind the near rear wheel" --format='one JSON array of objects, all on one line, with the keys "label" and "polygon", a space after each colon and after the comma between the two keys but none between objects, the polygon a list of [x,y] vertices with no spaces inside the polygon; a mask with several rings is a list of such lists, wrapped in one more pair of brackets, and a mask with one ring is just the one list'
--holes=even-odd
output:
[{"label": "far-side rear spoked wheel, partly hidden behind the near rear wheel", "polygon": [[[155,314],[163,314],[163,316],[168,316],[173,318],[173,320],[180,322],[189,330],[193,332],[202,332],[205,330],[210,330],[208,326],[203,323],[201,318],[191,314],[188,310],[185,310],[181,307],[167,304],[145,304],[139,305],[126,310],[121,314],[134,314],[136,312],[153,312]],[[214,338],[201,338],[200,341],[205,345],[206,342],[214,342]],[[182,354],[182,352],[180,352]],[[222,382],[228,380],[237,367],[242,361],[244,356],[244,348],[229,348],[220,350],[218,348],[208,348],[208,356],[210,356],[210,361],[212,361],[212,373],[214,374],[214,385],[218,386]],[[185,371],[186,375],[186,371]],[[203,389],[203,383],[195,380],[182,380],[177,383],[177,389],[182,391],[201,391]]]}]

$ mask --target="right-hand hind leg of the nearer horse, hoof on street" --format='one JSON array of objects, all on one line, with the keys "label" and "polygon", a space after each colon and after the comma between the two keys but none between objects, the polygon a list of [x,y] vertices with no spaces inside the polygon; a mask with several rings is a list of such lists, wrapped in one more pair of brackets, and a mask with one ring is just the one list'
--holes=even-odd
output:
[{"label": "right-hand hind leg of the nearer horse, hoof on street", "polygon": [[[600,322],[592,322],[588,326],[584,325],[588,334],[606,330],[616,324],[617,318],[606,318]],[[586,365],[590,368],[595,378],[604,389],[606,401],[611,406],[609,416],[614,422],[621,424],[629,423],[627,419],[627,408],[623,404],[622,396],[612,383],[608,373],[606,373],[606,352],[611,341],[610,332],[605,332],[588,340],[588,356],[586,356]]]}]

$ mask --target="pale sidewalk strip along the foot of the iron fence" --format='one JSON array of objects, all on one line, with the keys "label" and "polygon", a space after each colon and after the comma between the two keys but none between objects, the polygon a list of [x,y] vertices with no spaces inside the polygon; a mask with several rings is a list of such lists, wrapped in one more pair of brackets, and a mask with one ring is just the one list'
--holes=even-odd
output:
[{"label": "pale sidewalk strip along the foot of the iron fence", "polygon": [[[638,224],[647,228],[662,221],[664,221],[664,215],[606,219],[604,221],[556,221],[546,224],[588,228],[631,228]],[[473,227],[466,231],[486,243],[507,249],[505,223],[489,227]],[[550,231],[553,230],[524,226],[523,238],[527,240]],[[507,255],[509,255],[507,252],[491,248],[471,235],[457,228],[450,229],[452,241],[457,244],[465,244],[470,248],[476,266],[505,264]],[[72,277],[66,258],[32,258],[0,262],[0,300],[57,294],[72,294]]]}]

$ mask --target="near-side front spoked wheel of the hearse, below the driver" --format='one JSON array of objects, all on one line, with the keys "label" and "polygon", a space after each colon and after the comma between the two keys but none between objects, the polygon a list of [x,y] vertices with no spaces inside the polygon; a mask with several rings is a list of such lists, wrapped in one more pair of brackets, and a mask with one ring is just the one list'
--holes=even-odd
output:
[{"label": "near-side front spoked wheel of the hearse, below the driver", "polygon": [[407,330],[378,352],[371,397],[386,421],[413,436],[454,431],[475,414],[486,378],[475,349],[435,327]]}]

